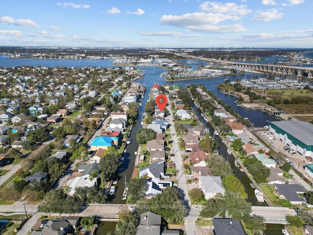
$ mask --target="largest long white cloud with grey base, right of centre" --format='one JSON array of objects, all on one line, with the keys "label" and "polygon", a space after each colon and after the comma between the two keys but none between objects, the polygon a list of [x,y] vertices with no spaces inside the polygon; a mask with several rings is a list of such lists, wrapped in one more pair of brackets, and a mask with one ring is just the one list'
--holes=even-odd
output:
[{"label": "largest long white cloud with grey base, right of centre", "polygon": [[237,17],[224,14],[195,12],[181,16],[164,15],[159,21],[161,24],[188,28],[197,32],[226,33],[247,31],[247,29],[240,24],[216,25],[220,22],[233,19],[237,19]]}]

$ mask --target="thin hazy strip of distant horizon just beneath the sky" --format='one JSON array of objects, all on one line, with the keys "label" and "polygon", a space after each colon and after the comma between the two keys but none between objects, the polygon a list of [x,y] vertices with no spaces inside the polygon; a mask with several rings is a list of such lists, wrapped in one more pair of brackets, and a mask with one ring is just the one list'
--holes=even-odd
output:
[{"label": "thin hazy strip of distant horizon just beneath the sky", "polygon": [[0,46],[0,47],[23,47],[23,48],[71,48],[71,49],[79,49],[79,48],[89,48],[89,49],[96,49],[96,48],[108,48],[108,49],[301,49],[301,50],[313,50],[310,47],[67,47],[67,46]]}]

